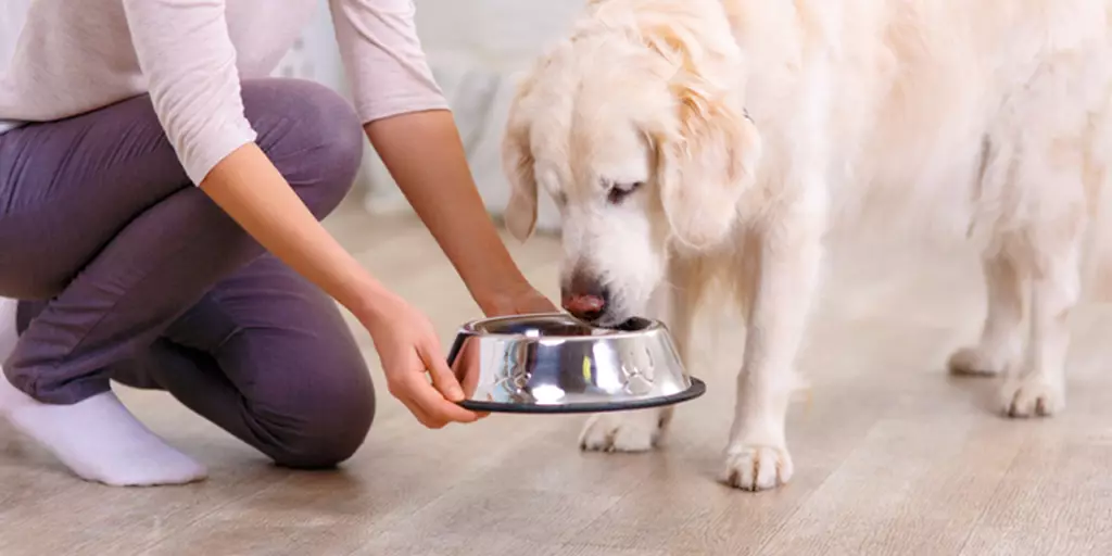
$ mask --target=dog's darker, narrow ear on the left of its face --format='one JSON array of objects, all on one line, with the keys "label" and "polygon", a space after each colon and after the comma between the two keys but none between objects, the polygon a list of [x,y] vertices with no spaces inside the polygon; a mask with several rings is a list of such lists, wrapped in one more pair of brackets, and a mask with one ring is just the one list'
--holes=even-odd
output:
[{"label": "dog's darker, narrow ear on the left of its face", "polygon": [[509,181],[509,202],[506,205],[506,229],[526,241],[537,226],[537,180],[533,171],[533,151],[526,126],[510,116],[502,142],[503,170]]}]

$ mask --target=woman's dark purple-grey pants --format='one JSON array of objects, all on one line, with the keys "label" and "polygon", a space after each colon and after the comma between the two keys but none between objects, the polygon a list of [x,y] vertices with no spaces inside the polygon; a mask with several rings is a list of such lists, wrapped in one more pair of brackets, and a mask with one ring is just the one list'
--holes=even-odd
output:
[{"label": "woman's dark purple-grey pants", "polygon": [[[328,89],[242,88],[258,145],[324,218],[363,153]],[[336,305],[189,182],[148,97],[0,135],[0,296],[20,302],[8,379],[73,404],[109,380],[165,389],[281,465],[327,467],[374,416]]]}]

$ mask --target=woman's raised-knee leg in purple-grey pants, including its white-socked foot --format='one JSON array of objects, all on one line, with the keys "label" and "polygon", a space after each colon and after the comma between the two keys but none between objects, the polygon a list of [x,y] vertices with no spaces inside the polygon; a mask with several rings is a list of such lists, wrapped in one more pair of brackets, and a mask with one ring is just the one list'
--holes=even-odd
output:
[{"label": "woman's raised-knee leg in purple-grey pants, including its white-socked foot", "polygon": [[[242,96],[259,146],[329,212],[358,167],[356,116],[306,82],[248,82]],[[50,298],[4,364],[0,411],[86,478],[197,478],[119,405],[108,369],[261,247],[189,183],[146,97],[0,135],[0,294]]]}]

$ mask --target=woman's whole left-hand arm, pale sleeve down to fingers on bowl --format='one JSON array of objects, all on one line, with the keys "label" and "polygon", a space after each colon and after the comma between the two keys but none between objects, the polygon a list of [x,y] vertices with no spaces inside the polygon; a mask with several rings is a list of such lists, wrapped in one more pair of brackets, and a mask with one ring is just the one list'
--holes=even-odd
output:
[{"label": "woman's whole left-hand arm, pale sleeve down to fingers on bowl", "polygon": [[189,178],[264,247],[351,310],[375,341],[390,393],[421,423],[478,418],[448,400],[463,391],[428,319],[336,242],[255,145],[224,2],[123,0],[123,10],[155,111]]}]

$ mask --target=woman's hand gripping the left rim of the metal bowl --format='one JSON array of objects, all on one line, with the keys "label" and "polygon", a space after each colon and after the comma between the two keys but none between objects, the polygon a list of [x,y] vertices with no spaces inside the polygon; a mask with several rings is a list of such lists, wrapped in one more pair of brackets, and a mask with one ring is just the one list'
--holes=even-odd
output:
[{"label": "woman's hand gripping the left rim of the metal bowl", "polygon": [[456,404],[464,399],[464,389],[448,368],[431,322],[415,307],[388,294],[360,321],[375,341],[390,395],[423,425],[441,428],[485,417]]}]

